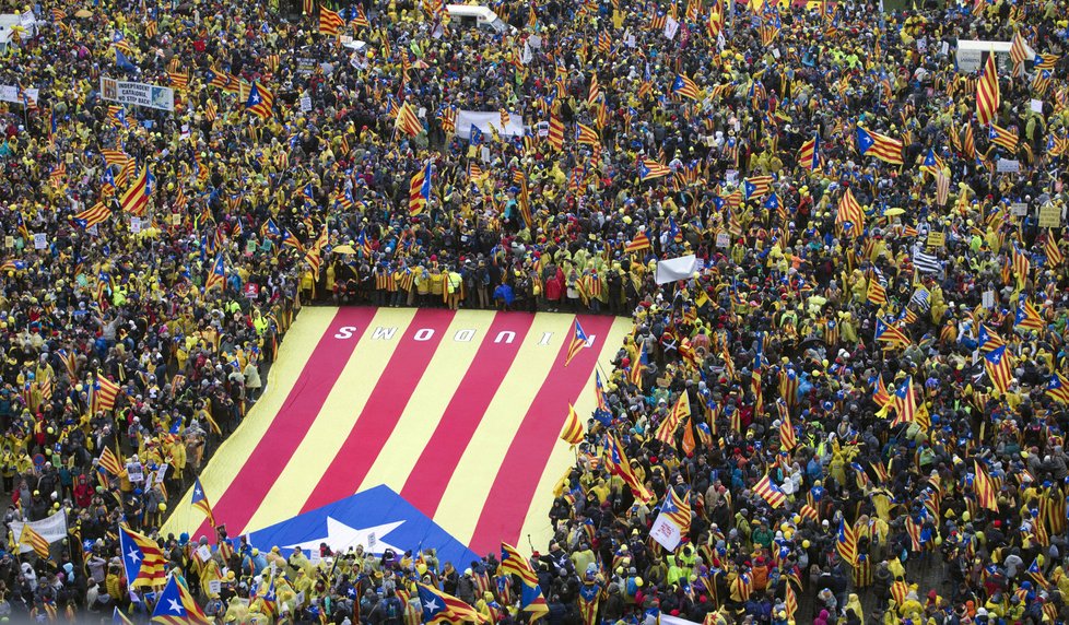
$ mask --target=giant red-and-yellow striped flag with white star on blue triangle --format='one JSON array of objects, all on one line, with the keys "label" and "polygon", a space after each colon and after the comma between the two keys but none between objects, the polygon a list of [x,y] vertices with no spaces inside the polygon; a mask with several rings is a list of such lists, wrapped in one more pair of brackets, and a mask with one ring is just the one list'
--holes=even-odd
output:
[{"label": "giant red-and-yellow striped flag with white star on blue triangle", "polygon": [[[587,337],[568,366],[575,321]],[[305,308],[271,384],[205,467],[212,516],[254,546],[439,558],[549,540],[560,440],[597,408],[595,369],[631,330],[608,316]],[[212,534],[187,493],[165,532]],[[545,534],[545,535],[543,535]]]}]

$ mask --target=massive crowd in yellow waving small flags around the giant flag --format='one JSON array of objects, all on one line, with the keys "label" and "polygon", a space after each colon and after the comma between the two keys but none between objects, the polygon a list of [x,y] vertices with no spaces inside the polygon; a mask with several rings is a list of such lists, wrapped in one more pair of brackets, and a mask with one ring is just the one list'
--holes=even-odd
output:
[{"label": "massive crowd in yellow waving small flags around the giant flag", "polygon": [[[530,561],[553,625],[1066,620],[1065,2],[308,4],[5,4],[5,521],[70,536],[12,536],[0,616],[144,616],[125,521],[219,622],[412,625],[415,579],[528,620],[495,555],[157,535],[334,302],[634,316]],[[960,39],[1014,42],[994,105]]]}]

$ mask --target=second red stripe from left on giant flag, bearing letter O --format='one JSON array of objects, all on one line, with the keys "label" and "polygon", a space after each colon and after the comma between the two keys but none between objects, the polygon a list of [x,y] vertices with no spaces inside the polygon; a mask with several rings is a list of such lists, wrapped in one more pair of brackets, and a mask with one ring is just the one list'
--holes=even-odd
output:
[{"label": "second red stripe from left on giant flag, bearing letter O", "polygon": [[[397,427],[404,406],[426,372],[438,343],[449,329],[451,310],[419,310],[398,342],[390,362],[379,376],[349,437],[330,461],[319,484],[305,502],[302,512],[332,504],[360,488],[367,472]],[[434,330],[426,341],[416,341],[418,332]]]}]

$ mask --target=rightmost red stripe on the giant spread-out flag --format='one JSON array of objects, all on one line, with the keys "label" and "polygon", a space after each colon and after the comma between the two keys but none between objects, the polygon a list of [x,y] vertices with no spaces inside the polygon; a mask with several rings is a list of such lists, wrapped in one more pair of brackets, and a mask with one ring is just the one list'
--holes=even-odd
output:
[{"label": "rightmost red stripe on the giant spread-out flag", "polygon": [[567,417],[568,402],[574,401],[590,380],[590,373],[606,346],[612,321],[612,317],[584,316],[579,319],[587,335],[597,334],[597,341],[592,347],[582,350],[568,368],[564,368],[564,358],[567,357],[571,337],[565,334],[557,362],[513,437],[486,504],[479,515],[470,541],[471,550],[475,553],[491,553],[501,547],[501,541],[516,544],[519,539],[538,482],[542,479],[545,463]]}]

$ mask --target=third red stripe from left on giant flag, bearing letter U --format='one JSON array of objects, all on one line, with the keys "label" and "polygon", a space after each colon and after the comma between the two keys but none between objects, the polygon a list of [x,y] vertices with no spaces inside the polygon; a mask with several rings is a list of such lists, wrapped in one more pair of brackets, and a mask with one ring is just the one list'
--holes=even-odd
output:
[{"label": "third red stripe from left on giant flag, bearing letter U", "polygon": [[[497,394],[497,389],[513,366],[533,322],[533,315],[497,312],[494,316],[468,372],[457,386],[431,440],[415,463],[416,467],[433,467],[434,470],[413,471],[401,490],[401,497],[424,515],[433,517],[438,509],[460,458],[490,408],[490,402]],[[505,330],[516,332],[515,340],[512,343],[495,343],[497,333]]]}]

